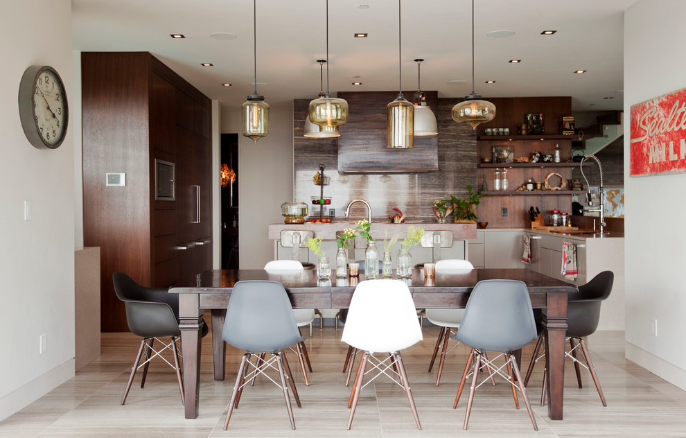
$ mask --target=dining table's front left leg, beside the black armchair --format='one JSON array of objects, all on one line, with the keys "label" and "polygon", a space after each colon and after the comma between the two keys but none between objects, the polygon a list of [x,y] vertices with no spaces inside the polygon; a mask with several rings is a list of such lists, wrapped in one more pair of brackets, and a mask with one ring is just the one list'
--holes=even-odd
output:
[{"label": "dining table's front left leg, beside the black armchair", "polygon": [[202,311],[197,294],[179,295],[179,329],[184,357],[184,410],[186,418],[197,418],[200,392],[200,347],[202,345]]}]

